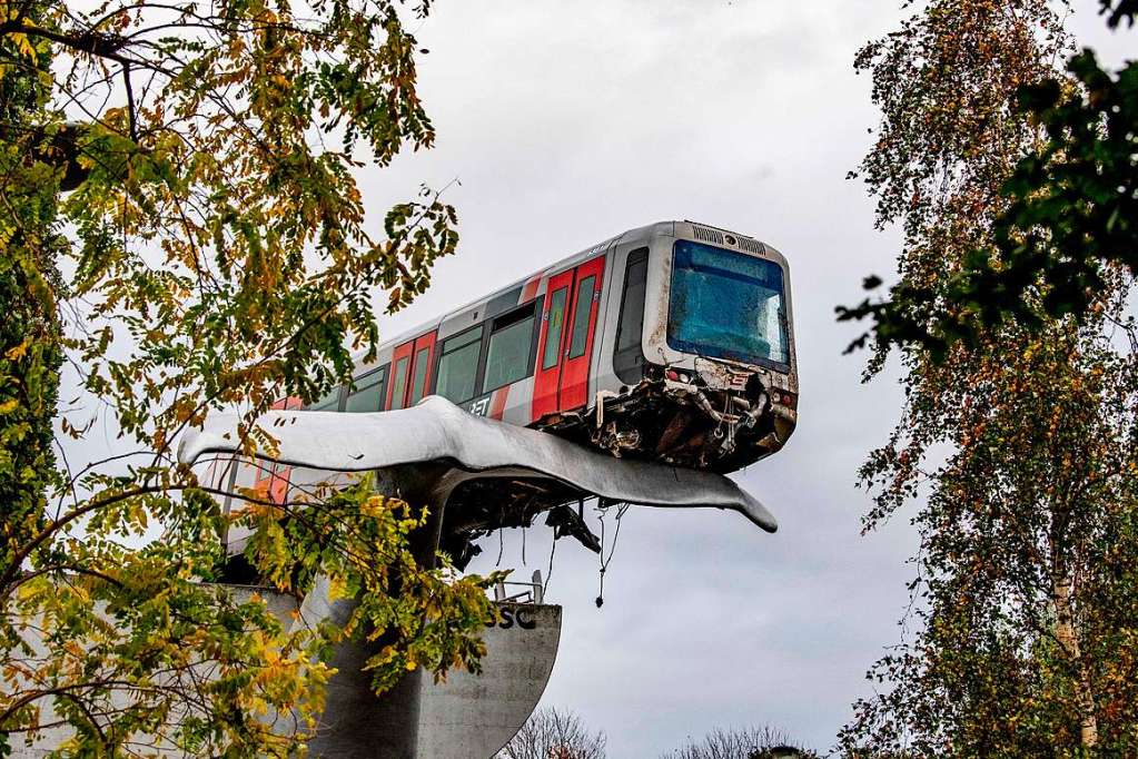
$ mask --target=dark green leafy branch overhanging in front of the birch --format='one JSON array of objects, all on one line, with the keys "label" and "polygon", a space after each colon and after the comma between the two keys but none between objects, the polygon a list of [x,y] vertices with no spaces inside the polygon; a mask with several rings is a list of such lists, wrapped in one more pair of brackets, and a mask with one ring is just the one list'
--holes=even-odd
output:
[{"label": "dark green leafy branch overhanging in front of the birch", "polygon": [[[1133,24],[1133,2],[1103,0],[1112,28]],[[1138,272],[1138,63],[1114,74],[1086,49],[1070,80],[1024,83],[1015,108],[1044,132],[1000,188],[1006,207],[989,246],[950,278],[904,281],[883,300],[839,307],[839,320],[872,319],[880,345],[913,344],[943,356],[957,340],[976,345],[986,327],[1096,308],[1113,272]],[[871,277],[869,290],[881,286]],[[850,348],[871,338],[866,332]]]}]

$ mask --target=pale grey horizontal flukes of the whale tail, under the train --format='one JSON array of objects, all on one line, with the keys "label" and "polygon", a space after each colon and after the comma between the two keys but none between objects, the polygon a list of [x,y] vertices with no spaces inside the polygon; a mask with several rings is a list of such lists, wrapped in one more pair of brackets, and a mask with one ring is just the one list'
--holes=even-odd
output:
[{"label": "pale grey horizontal flukes of the whale tail, under the train", "polygon": [[[183,435],[179,460],[192,464],[208,454],[237,454],[239,420],[212,414],[201,429]],[[439,396],[373,413],[270,411],[258,424],[278,442],[271,459],[291,467],[358,472],[448,463],[475,473],[523,471],[611,502],[728,509],[768,533],[778,529],[766,506],[723,475],[616,459],[549,432],[476,416]]]}]

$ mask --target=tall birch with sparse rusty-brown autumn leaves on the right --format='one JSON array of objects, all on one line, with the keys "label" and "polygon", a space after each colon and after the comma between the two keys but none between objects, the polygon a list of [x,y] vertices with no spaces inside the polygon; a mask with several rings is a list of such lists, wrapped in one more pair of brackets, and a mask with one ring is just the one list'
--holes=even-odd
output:
[{"label": "tall birch with sparse rusty-brown autumn leaves on the right", "polygon": [[[1048,258],[1052,273],[1029,278],[1031,319],[1004,320],[1023,290],[975,273],[988,261],[978,250],[1031,269],[1054,246],[1132,233],[1110,225],[1132,201],[1116,187],[1105,205],[1079,197],[1103,189],[1098,167],[1124,168],[1108,163],[1118,125],[1095,110],[1108,122],[1122,109],[1099,99],[1111,82],[1088,56],[1077,77],[1053,67],[1069,47],[1047,2],[933,0],[858,57],[882,109],[859,173],[879,224],[904,230],[891,304],[846,314],[879,320],[871,373],[902,346],[901,418],[860,472],[875,501],[865,525],[915,501],[921,547],[912,632],[871,670],[874,695],[841,734],[855,756],[1138,749],[1132,278],[1104,265],[1079,280],[1071,261]],[[1072,138],[1095,145],[1058,147]],[[1000,261],[996,279],[1023,275]],[[989,289],[962,295],[980,282]],[[1080,321],[1058,315],[1075,291]]]}]

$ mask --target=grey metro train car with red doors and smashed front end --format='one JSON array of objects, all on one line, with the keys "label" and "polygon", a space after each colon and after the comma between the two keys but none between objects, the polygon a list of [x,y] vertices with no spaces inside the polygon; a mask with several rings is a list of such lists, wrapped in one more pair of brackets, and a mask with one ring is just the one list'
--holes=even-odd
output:
[{"label": "grey metro train car with red doors and smashed front end", "polygon": [[305,409],[431,394],[615,456],[737,470],[797,423],[786,259],[706,224],[629,230],[385,343]]}]

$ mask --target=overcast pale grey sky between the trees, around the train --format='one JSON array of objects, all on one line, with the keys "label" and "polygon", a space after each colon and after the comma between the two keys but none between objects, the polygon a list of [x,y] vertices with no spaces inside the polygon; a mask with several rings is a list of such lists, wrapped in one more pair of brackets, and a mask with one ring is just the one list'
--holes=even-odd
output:
[{"label": "overcast pale grey sky between the trees, around the train", "polygon": [[[1097,2],[1075,7],[1070,25],[1103,43]],[[798,431],[735,476],[778,533],[727,512],[633,509],[600,610],[596,556],[558,546],[549,597],[564,627],[543,703],[603,729],[610,757],[760,724],[827,749],[897,641],[914,536],[900,520],[860,537],[868,502],[853,482],[900,393],[896,374],[859,383],[864,356],[841,355],[855,330],[833,307],[892,271],[896,234],[873,230],[872,201],[844,176],[876,121],[853,53],[900,18],[897,0],[462,0],[419,28],[438,143],[365,173],[365,198],[381,213],[419,182],[457,179],[445,198],[462,242],[387,335],[659,220],[753,234],[790,259]],[[502,564],[545,574],[547,531],[528,530],[522,567],[508,530]],[[497,558],[496,541],[484,547],[476,570]]]}]

